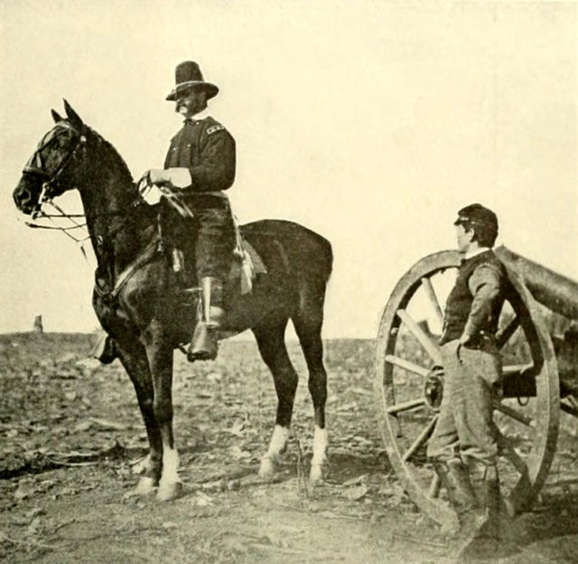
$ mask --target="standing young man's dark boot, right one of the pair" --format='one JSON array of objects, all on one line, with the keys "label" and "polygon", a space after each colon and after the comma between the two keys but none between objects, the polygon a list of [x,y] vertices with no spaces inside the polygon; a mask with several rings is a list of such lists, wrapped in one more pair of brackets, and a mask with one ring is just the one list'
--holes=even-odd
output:
[{"label": "standing young man's dark boot, right one of the pair", "polygon": [[500,495],[497,466],[485,468],[480,497],[482,518],[466,519],[458,540],[457,556],[464,561],[492,558],[498,550]]}]

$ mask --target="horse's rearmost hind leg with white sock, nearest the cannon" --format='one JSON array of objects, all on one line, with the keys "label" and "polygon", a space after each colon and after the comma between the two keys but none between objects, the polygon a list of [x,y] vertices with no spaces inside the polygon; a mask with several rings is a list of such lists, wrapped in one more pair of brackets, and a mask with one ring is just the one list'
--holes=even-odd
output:
[{"label": "horse's rearmost hind leg with white sock, nearest the cannon", "polygon": [[327,401],[327,372],[323,366],[323,293],[315,299],[302,299],[299,312],[293,317],[295,332],[303,349],[309,370],[309,391],[315,413],[313,432],[313,456],[310,480],[318,482],[327,463],[327,429],[325,428],[325,403]]}]

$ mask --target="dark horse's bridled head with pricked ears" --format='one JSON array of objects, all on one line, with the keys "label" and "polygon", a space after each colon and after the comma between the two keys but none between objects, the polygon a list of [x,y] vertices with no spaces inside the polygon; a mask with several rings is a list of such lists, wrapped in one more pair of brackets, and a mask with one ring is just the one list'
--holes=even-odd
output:
[{"label": "dark horse's bridled head with pricked ears", "polygon": [[42,137],[14,189],[14,202],[23,213],[33,213],[45,200],[74,187],[74,164],[81,158],[88,128],[66,100],[64,108],[66,118],[52,110],[55,126]]}]

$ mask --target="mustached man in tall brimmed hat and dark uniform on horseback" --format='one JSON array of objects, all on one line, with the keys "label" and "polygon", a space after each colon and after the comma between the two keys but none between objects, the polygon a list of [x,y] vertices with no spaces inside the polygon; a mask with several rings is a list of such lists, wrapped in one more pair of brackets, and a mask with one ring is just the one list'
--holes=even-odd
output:
[{"label": "mustached man in tall brimmed hat and dark uniform on horseback", "polygon": [[149,183],[179,193],[194,216],[196,274],[203,306],[189,347],[190,361],[217,356],[215,330],[224,315],[222,286],[236,243],[233,216],[223,193],[235,180],[235,140],[215,119],[193,119],[218,92],[217,86],[203,79],[196,62],[177,65],[175,88],[166,99],[176,103],[175,111],[184,124],[172,137],[164,168],[145,174]]}]

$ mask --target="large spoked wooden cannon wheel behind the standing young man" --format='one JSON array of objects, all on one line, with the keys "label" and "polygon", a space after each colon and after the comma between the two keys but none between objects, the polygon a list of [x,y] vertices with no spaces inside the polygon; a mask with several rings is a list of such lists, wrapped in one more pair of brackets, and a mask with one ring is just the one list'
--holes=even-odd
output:
[{"label": "large spoked wooden cannon wheel behind the standing young man", "polygon": [[[441,355],[429,320],[439,334],[443,289],[447,295],[459,264],[457,251],[442,251],[421,259],[399,280],[381,317],[375,358],[374,389],[387,456],[406,493],[440,524],[455,524],[456,515],[425,457],[440,400],[432,382],[434,391],[437,385],[443,392]],[[530,507],[545,482],[555,453],[560,392],[554,347],[538,306],[510,269],[508,278],[511,287],[497,334],[505,393],[494,420],[502,500],[513,516]],[[420,307],[428,310],[427,324],[416,313]],[[514,379],[509,399],[507,378]]]}]

